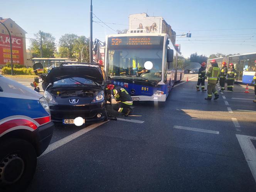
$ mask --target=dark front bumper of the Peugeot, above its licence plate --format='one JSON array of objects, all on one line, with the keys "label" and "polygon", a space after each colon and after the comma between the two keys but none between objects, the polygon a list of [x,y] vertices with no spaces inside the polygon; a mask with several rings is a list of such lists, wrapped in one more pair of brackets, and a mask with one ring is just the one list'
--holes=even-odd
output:
[{"label": "dark front bumper of the Peugeot, above its licence plate", "polygon": [[[104,101],[96,104],[83,106],[55,105],[50,106],[52,121],[62,122],[63,119],[75,119],[82,117],[86,122],[103,121],[106,118],[106,108]],[[97,114],[101,114],[98,118]]]}]

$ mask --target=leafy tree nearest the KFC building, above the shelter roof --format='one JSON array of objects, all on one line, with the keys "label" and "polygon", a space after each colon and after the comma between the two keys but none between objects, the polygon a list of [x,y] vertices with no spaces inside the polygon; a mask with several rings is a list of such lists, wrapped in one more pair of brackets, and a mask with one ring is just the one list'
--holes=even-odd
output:
[{"label": "leafy tree nearest the KFC building, above the shelter roof", "polygon": [[41,57],[41,42],[40,34],[42,33],[42,52],[43,57],[54,57],[54,52],[56,52],[55,37],[50,33],[39,31],[34,34],[35,40],[31,40],[31,55],[33,57]]}]

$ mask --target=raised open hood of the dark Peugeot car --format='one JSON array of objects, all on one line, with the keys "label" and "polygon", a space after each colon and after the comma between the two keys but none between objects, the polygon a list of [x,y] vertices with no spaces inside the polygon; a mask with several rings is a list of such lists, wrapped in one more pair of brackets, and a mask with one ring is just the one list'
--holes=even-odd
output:
[{"label": "raised open hood of the dark Peugeot car", "polygon": [[103,83],[103,75],[98,67],[94,66],[64,66],[64,67],[54,67],[47,74],[47,83],[54,83],[61,79],[71,78],[71,77],[84,77],[98,84]]}]

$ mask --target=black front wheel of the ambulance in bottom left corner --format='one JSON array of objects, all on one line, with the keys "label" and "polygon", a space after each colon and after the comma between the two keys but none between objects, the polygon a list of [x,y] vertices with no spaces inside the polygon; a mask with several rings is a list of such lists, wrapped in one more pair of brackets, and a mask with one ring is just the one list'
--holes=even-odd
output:
[{"label": "black front wheel of the ambulance in bottom left corner", "polygon": [[3,140],[0,146],[0,191],[24,191],[35,173],[35,148],[29,142],[16,138]]}]

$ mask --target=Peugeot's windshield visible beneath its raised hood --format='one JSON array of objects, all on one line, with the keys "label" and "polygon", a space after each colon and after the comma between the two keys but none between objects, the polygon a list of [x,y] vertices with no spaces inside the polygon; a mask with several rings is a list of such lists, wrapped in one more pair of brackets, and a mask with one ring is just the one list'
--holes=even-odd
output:
[{"label": "Peugeot's windshield visible beneath its raised hood", "polygon": [[81,86],[81,85],[95,86],[95,85],[98,85],[98,83],[83,77],[70,77],[70,78],[61,79],[59,81],[54,82],[54,86]]}]

